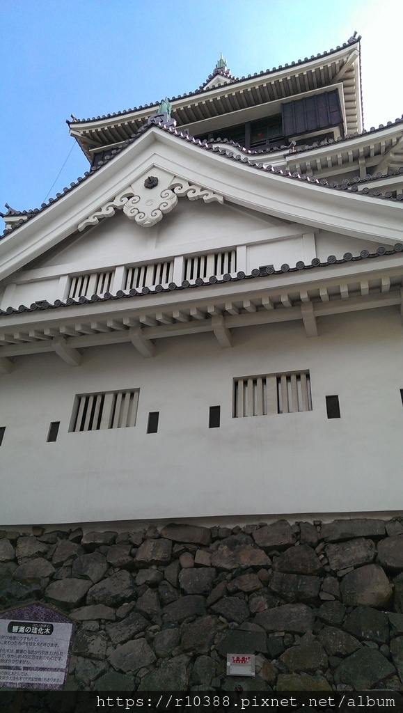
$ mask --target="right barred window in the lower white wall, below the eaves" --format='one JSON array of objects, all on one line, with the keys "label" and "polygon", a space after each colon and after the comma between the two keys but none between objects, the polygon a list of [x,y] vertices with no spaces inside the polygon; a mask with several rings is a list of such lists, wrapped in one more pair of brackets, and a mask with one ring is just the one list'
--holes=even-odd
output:
[{"label": "right barred window in the lower white wall, below the eaves", "polygon": [[309,371],[234,379],[233,417],[312,411]]}]

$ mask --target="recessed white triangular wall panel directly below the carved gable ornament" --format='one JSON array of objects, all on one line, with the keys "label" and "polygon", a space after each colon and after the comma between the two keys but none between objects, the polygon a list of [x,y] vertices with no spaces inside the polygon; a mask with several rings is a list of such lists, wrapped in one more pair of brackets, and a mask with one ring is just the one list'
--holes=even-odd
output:
[{"label": "recessed white triangular wall panel directly below the carved gable ornament", "polygon": [[273,229],[286,225],[278,218],[229,203],[206,205],[201,200],[189,202],[181,198],[175,210],[147,230],[118,211],[85,232],[66,238],[48,255],[26,265],[26,269],[71,263],[95,269],[122,260],[128,263],[178,253],[190,255],[265,240]]}]

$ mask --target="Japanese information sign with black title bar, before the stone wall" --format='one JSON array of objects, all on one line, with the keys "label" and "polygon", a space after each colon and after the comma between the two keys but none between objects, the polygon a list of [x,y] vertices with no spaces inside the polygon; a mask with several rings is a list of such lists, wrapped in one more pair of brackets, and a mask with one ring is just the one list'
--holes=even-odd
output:
[{"label": "Japanese information sign with black title bar, before the stone wall", "polygon": [[0,613],[0,688],[58,689],[68,668],[73,622],[31,604]]}]

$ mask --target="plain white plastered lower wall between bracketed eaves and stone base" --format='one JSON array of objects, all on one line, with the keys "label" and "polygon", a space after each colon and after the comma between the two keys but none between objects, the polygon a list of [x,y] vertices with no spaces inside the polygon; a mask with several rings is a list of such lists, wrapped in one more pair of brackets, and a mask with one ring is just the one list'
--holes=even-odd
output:
[{"label": "plain white plastered lower wall between bracketed eaves and stone base", "polygon": [[[79,367],[21,356],[1,377],[0,523],[395,511],[403,503],[396,308],[86,349]],[[313,410],[234,419],[233,379],[310,370]],[[68,433],[76,394],[140,389],[136,426]],[[325,396],[340,397],[327,419]],[[221,424],[208,429],[209,406]],[[149,411],[160,411],[147,434]],[[60,421],[56,443],[46,443]],[[400,503],[400,505],[399,505]]]}]

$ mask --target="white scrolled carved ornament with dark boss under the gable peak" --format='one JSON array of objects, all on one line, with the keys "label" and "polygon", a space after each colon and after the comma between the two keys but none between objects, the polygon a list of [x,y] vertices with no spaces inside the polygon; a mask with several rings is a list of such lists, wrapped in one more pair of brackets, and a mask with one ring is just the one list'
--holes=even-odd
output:
[{"label": "white scrolled carved ornament with dark boss under the gable peak", "polygon": [[[201,199],[205,203],[212,201],[224,202],[223,195],[214,193],[213,190],[202,188],[200,185],[188,183],[183,178],[165,173],[163,170],[155,171],[158,175],[148,175],[146,179],[138,178],[126,188],[121,190],[113,200],[108,200],[86,220],[78,223],[78,230],[88,226],[97,225],[100,220],[115,215],[116,210],[123,210],[129,220],[135,220],[137,225],[151,227],[162,220],[165,213],[169,213],[178,204],[178,198],[188,196],[189,200]],[[144,175],[144,174],[143,174]],[[161,185],[163,189],[161,190]],[[151,189],[158,186],[158,191],[150,193]]]}]

